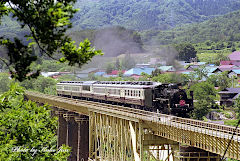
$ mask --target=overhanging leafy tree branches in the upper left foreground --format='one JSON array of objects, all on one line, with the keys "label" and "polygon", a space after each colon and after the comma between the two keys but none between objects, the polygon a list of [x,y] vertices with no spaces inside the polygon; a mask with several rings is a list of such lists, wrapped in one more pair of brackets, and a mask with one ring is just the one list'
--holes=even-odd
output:
[{"label": "overhanging leafy tree branches in the upper left foreground", "polygon": [[[82,66],[101,51],[91,47],[89,40],[79,46],[65,33],[72,27],[70,19],[77,12],[73,8],[76,0],[5,0],[0,2],[0,17],[9,15],[28,29],[22,38],[0,37],[0,45],[7,48],[6,59],[1,60],[8,66],[11,76],[19,81],[35,78],[40,70],[33,71],[31,64],[39,59],[33,49],[38,48],[40,55],[45,55],[68,65]],[[29,42],[26,44],[26,42]],[[58,57],[55,55],[58,54]]]}]

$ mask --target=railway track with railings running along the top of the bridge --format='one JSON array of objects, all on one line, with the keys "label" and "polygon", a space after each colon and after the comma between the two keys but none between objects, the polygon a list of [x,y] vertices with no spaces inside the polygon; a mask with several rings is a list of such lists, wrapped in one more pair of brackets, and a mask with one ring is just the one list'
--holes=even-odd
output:
[{"label": "railway track with railings running along the top of the bridge", "polygon": [[74,104],[76,106],[87,107],[89,111],[106,113],[109,115],[118,115],[119,117],[137,119],[142,121],[154,122],[159,124],[164,124],[168,126],[174,126],[176,128],[191,130],[194,132],[199,132],[207,135],[212,135],[215,137],[229,139],[234,134],[233,140],[240,142],[240,128],[235,131],[235,127],[203,122],[199,120],[193,120],[188,118],[181,118],[156,112],[144,111],[141,109],[134,109],[130,107],[111,105],[106,103],[99,103],[94,101],[72,99],[66,97],[59,97],[54,95],[46,95],[35,92],[26,92],[26,95],[32,95],[37,97],[42,97],[54,100],[56,102],[64,102],[68,104]]}]

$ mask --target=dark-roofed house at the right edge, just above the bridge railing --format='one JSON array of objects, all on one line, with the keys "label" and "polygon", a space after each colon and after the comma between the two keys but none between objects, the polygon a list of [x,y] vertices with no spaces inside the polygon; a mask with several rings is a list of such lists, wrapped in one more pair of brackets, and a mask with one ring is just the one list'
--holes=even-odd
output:
[{"label": "dark-roofed house at the right edge, just above the bridge railing", "polygon": [[232,106],[234,100],[240,95],[240,88],[225,88],[218,94],[220,95],[220,105]]}]

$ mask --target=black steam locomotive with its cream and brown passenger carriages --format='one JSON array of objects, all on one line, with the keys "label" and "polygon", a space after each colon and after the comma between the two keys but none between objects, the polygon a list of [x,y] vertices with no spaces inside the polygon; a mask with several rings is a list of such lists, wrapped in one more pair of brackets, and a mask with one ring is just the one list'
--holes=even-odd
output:
[{"label": "black steam locomotive with its cream and brown passenger carriages", "polygon": [[187,117],[193,110],[177,84],[151,81],[65,81],[57,83],[59,96],[119,104],[149,111]]}]

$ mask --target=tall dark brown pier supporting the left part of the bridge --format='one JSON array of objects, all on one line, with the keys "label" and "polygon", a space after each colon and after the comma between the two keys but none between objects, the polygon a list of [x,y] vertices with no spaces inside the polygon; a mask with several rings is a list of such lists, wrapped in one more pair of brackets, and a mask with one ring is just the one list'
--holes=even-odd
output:
[{"label": "tall dark brown pier supporting the left part of the bridge", "polygon": [[58,148],[71,147],[69,161],[87,161],[89,157],[89,117],[66,110],[56,110],[58,116]]}]

